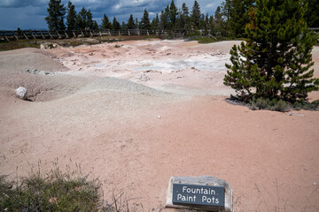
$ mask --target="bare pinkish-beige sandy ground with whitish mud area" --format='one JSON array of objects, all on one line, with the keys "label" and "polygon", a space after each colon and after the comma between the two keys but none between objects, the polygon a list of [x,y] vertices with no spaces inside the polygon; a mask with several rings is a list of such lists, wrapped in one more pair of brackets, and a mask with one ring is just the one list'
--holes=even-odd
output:
[{"label": "bare pinkish-beige sandy ground with whitish mud area", "polygon": [[[209,175],[230,183],[235,211],[318,211],[319,113],[225,102],[234,43],[0,52],[0,175],[81,164],[105,200],[123,193],[136,211],[175,211],[164,208],[168,179]],[[319,77],[318,47],[313,57]]]}]

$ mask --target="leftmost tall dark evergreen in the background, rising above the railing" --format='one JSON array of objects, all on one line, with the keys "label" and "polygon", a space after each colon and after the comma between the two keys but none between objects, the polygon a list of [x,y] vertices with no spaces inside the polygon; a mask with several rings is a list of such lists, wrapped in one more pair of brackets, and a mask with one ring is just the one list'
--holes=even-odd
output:
[{"label": "leftmost tall dark evergreen in the background, rising above the railing", "polygon": [[61,0],[50,0],[47,9],[49,15],[45,17],[50,30],[65,30],[64,18],[66,15],[66,8],[61,4]]}]

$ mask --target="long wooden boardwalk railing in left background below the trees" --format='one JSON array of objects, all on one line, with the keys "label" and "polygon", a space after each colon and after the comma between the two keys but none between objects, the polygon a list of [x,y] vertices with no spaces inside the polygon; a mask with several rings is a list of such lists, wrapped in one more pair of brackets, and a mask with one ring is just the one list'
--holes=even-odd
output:
[{"label": "long wooden boardwalk railing in left background below the trees", "polygon": [[72,30],[72,31],[49,31],[49,30],[19,30],[19,31],[0,31],[0,39],[5,41],[20,39],[67,39],[74,37],[94,37],[94,36],[114,36],[114,35],[167,35],[163,30]]}]

